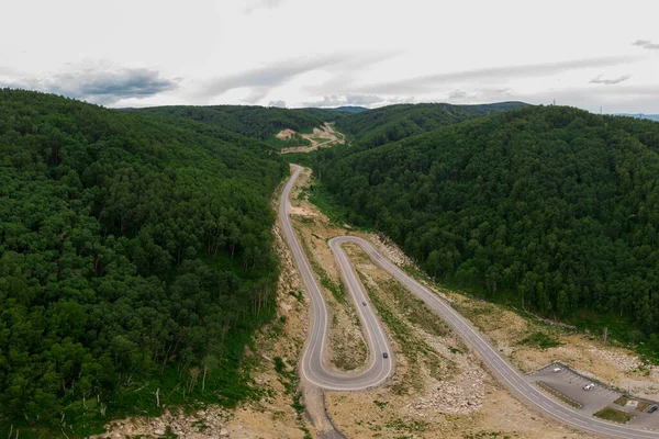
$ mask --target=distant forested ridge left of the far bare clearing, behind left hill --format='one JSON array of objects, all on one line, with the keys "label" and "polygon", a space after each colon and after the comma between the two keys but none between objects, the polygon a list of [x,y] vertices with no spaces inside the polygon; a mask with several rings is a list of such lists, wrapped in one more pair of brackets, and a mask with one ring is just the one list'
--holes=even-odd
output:
[{"label": "distant forested ridge left of the far bare clearing, behind left hill", "polygon": [[147,115],[171,116],[171,123],[180,124],[191,120],[213,127],[219,127],[243,136],[265,140],[277,147],[300,146],[308,140],[295,136],[289,142],[275,138],[282,130],[310,132],[325,122],[333,122],[344,114],[340,111],[324,109],[279,109],[247,105],[214,105],[214,106],[155,106],[130,110]]}]

